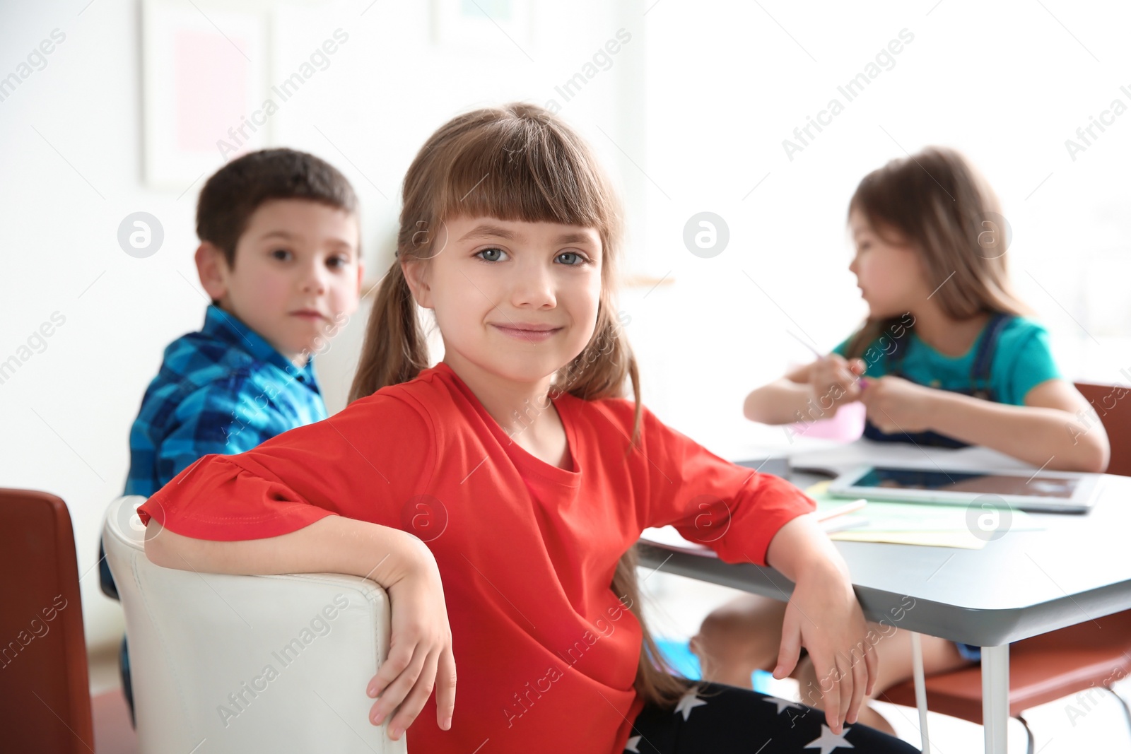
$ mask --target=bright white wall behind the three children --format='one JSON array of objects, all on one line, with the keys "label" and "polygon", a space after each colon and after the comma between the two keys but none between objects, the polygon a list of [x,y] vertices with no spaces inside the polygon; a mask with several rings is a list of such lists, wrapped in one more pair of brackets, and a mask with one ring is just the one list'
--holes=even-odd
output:
[{"label": "bright white wall behind the three children", "polygon": [[[430,3],[277,6],[279,71],[336,28],[349,34],[274,124],[277,144],[327,158],[354,183],[373,277],[390,260],[404,170],[435,127],[483,103],[544,104],[624,28],[632,41],[612,67],[570,102],[558,98],[624,192],[632,269],[667,275],[621,301],[659,416],[720,451],[780,437],[741,419],[742,396],[808,357],[787,329],[830,347],[863,317],[846,269],[848,197],[866,172],[927,144],[965,150],[995,185],[1013,228],[1017,286],[1053,331],[1065,373],[1114,382],[1131,367],[1131,113],[1076,161],[1064,147],[1113,98],[1131,105],[1120,92],[1131,88],[1124,6],[535,8],[523,50],[485,27],[481,49],[460,52],[432,42]],[[68,502],[80,570],[90,569],[81,581],[88,638],[107,643],[121,618],[93,570],[101,515],[121,491],[129,425],[162,349],[202,319],[191,260],[199,184],[182,194],[141,180],[138,5],[5,5],[0,77],[55,28],[66,41],[0,102],[0,361],[21,353],[53,312],[66,317],[42,353],[0,383],[0,485]],[[782,140],[903,28],[915,40],[895,67],[789,161]],[[138,210],[165,229],[148,259],[116,243],[118,224]],[[702,210],[731,229],[714,259],[682,242],[684,223]],[[331,411],[344,405],[364,313],[320,358]]]}]

